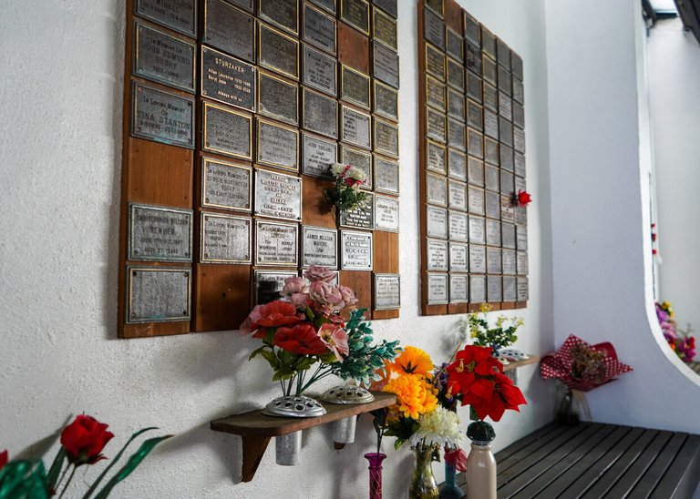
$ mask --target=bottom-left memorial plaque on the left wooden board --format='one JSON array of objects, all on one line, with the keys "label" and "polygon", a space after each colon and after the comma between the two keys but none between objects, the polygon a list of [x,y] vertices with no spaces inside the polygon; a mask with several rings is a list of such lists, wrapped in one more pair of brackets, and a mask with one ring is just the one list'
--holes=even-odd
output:
[{"label": "bottom-left memorial plaque on the left wooden board", "polygon": [[190,321],[192,270],[127,267],[127,324]]}]

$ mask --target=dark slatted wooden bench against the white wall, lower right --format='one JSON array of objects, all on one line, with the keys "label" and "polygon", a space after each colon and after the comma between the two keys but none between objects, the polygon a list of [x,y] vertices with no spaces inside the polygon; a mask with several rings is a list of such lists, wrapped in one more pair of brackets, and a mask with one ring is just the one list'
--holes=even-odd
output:
[{"label": "dark slatted wooden bench against the white wall, lower right", "polygon": [[[689,499],[700,483],[700,435],[551,423],[497,453],[496,462],[499,499]],[[464,474],[458,483],[466,490]]]}]

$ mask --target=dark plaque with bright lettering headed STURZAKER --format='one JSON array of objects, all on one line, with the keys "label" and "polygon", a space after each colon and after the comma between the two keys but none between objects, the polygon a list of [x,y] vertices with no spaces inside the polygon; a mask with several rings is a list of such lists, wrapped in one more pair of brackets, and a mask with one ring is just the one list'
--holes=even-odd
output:
[{"label": "dark plaque with bright lettering headed STURZAKER", "polygon": [[202,46],[201,95],[254,111],[255,66],[208,46]]}]

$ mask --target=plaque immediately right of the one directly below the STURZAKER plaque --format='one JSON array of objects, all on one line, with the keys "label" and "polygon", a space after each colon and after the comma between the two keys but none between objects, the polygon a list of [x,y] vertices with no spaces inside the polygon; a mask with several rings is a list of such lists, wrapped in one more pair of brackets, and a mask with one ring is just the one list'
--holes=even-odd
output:
[{"label": "plaque immediately right of the one directly below the STURZAKER plaque", "polygon": [[299,130],[258,117],[257,162],[299,171]]}]

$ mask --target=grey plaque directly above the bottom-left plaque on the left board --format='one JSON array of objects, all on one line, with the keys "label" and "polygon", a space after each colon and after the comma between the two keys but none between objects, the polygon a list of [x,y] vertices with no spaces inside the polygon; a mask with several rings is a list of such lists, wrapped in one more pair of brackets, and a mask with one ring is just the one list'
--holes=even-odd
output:
[{"label": "grey plaque directly above the bottom-left plaque on the left board", "polygon": [[129,260],[192,261],[192,211],[129,203]]}]

